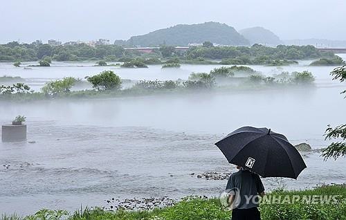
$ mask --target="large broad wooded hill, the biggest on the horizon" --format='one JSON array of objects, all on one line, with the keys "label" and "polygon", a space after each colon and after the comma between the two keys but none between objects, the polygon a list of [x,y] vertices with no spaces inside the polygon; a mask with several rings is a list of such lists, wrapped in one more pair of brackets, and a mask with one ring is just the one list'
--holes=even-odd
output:
[{"label": "large broad wooded hill, the biggest on the horizon", "polygon": [[[204,24],[179,24],[170,28],[155,30],[146,35],[134,36],[127,40],[131,46],[188,46],[188,44],[202,44],[212,42],[221,45],[249,45],[245,37],[237,33],[235,28],[217,22]],[[115,44],[120,44],[116,41]]]}]

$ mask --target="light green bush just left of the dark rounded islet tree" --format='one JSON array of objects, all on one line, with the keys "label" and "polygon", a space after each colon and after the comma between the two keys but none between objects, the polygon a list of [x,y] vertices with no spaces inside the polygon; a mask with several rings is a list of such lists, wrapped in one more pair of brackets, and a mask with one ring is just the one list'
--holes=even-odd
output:
[{"label": "light green bush just left of the dark rounded islet tree", "polygon": [[57,96],[64,93],[69,93],[77,80],[74,77],[64,77],[62,80],[54,80],[46,82],[41,91],[46,95]]}]

